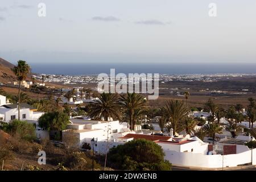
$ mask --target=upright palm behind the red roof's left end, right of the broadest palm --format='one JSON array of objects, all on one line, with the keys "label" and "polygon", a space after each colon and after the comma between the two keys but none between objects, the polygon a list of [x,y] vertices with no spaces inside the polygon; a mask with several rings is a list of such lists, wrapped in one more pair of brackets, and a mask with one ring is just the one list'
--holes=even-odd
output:
[{"label": "upright palm behind the red roof's left end, right of the broadest palm", "polygon": [[120,104],[129,118],[130,129],[134,130],[135,119],[138,117],[138,113],[143,113],[147,110],[147,102],[140,94],[127,93],[121,96]]}]

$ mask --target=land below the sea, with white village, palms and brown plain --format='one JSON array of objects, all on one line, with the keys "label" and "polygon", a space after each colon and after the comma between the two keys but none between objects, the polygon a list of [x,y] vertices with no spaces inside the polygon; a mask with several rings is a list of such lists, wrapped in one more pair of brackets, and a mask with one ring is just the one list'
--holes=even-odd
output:
[{"label": "land below the sea, with white village, palms and brown plain", "polygon": [[256,74],[159,76],[159,97],[0,59],[0,167],[255,170]]}]

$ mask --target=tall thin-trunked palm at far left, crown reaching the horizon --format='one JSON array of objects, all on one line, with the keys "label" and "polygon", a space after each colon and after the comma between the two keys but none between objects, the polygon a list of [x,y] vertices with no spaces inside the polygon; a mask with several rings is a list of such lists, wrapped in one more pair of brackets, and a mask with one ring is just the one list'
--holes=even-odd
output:
[{"label": "tall thin-trunked palm at far left, crown reaching the horizon", "polygon": [[26,61],[19,60],[18,64],[13,68],[13,72],[19,81],[19,92],[18,92],[18,119],[20,118],[20,84],[23,80],[26,80],[27,74],[30,73],[30,66]]}]

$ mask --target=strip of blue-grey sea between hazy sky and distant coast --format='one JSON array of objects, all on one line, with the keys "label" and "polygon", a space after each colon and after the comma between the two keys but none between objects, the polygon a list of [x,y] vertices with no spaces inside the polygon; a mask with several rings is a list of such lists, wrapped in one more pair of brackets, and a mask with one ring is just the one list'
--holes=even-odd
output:
[{"label": "strip of blue-grey sea between hazy sky and distant coast", "polygon": [[55,75],[98,75],[99,73],[110,73],[110,68],[117,73],[160,73],[170,75],[181,74],[213,74],[213,73],[256,73],[256,63],[233,64],[233,63],[180,63],[180,64],[115,64],[115,63],[65,63],[65,64],[30,64],[32,72]]}]

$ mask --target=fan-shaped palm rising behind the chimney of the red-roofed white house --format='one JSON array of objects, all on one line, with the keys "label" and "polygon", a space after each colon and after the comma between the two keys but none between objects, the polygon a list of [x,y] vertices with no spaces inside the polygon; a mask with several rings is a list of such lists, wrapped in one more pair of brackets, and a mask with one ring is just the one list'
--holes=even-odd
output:
[{"label": "fan-shaped palm rising behind the chimney of the red-roofed white house", "polygon": [[167,101],[166,106],[164,107],[164,113],[168,119],[168,122],[171,123],[171,127],[174,130],[174,134],[178,129],[179,123],[184,121],[189,113],[188,107],[180,100],[171,100]]}]

